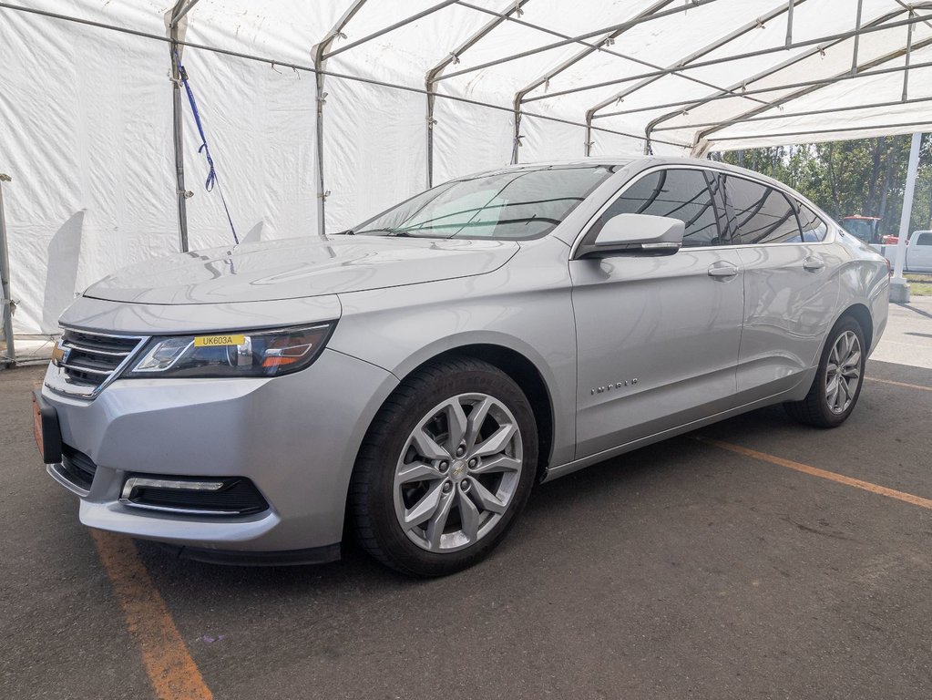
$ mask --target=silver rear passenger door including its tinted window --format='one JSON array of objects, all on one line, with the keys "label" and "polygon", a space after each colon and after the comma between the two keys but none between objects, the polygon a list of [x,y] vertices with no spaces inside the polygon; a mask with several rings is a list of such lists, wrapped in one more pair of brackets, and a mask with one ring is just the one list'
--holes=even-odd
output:
[{"label": "silver rear passenger door including its tinted window", "polygon": [[838,302],[828,226],[779,189],[731,173],[723,195],[745,280],[740,403],[786,391],[818,362]]}]

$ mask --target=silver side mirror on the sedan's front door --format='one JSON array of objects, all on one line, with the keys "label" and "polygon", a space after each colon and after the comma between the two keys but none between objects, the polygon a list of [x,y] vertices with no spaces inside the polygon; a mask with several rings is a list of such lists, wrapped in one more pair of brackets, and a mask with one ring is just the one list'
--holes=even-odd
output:
[{"label": "silver side mirror on the sedan's front door", "polygon": [[609,253],[672,255],[683,244],[686,225],[669,216],[620,213],[612,216],[596,240],[584,243],[577,257]]}]

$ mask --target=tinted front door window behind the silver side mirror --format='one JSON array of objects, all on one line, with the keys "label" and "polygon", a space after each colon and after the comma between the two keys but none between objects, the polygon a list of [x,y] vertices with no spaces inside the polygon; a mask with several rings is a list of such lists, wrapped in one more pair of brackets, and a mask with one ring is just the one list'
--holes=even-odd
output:
[{"label": "tinted front door window behind the silver side mirror", "polygon": [[718,180],[698,170],[651,172],[637,180],[598,217],[590,229],[594,235],[612,216],[646,213],[670,216],[686,225],[683,247],[722,245],[712,185]]}]

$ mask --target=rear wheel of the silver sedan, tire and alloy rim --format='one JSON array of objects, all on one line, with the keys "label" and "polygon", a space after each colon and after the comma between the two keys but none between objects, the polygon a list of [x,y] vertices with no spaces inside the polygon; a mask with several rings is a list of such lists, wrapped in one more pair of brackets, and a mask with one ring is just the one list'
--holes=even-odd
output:
[{"label": "rear wheel of the silver sedan, tire and alloy rim", "polygon": [[[845,350],[846,343],[852,338],[857,348],[850,352],[857,352],[857,358],[854,354],[846,354],[849,352]],[[857,405],[866,360],[864,331],[855,319],[843,316],[826,339],[809,393],[802,401],[784,404],[790,418],[816,428],[840,426]],[[833,384],[833,380],[838,383]],[[833,387],[837,389],[831,391]]]}]

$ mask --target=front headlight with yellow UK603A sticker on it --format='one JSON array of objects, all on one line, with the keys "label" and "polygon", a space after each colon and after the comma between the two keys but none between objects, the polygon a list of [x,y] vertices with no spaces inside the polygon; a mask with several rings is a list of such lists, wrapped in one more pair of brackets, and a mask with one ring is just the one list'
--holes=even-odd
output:
[{"label": "front headlight with yellow UK603A sticker on it", "polygon": [[314,362],[334,325],[154,337],[123,377],[277,377]]}]

